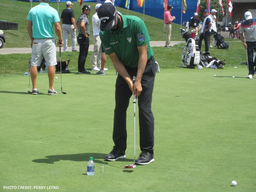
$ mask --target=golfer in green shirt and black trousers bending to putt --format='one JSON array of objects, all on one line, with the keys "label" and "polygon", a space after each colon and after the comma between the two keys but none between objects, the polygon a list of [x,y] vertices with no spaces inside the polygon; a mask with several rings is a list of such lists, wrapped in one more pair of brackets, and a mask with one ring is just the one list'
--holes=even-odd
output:
[{"label": "golfer in green shirt and black trousers bending to putt", "polygon": [[[151,111],[156,66],[145,23],[139,17],[119,15],[111,3],[98,9],[100,38],[118,72],[113,124],[113,150],[105,159],[125,158],[127,147],[126,111],[132,95],[138,98],[140,153],[136,164],[154,162],[154,116]],[[136,80],[133,82],[133,76]]]}]

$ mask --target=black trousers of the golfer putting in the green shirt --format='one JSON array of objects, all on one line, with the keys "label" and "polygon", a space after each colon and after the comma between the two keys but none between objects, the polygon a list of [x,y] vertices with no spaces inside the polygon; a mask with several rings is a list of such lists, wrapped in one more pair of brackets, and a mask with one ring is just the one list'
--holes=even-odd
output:
[{"label": "black trousers of the golfer putting in the green shirt", "polygon": [[[126,67],[128,74],[132,78],[137,75],[137,68]],[[154,116],[151,111],[152,93],[154,88],[154,79],[156,66],[154,57],[148,60],[141,80],[142,92],[137,99],[139,107],[139,125],[140,125],[140,150],[149,151],[153,154],[154,147]],[[126,111],[132,96],[127,82],[118,75],[116,79],[116,108],[114,111],[113,141],[116,148],[126,150]],[[132,116],[132,111],[128,115]],[[137,113],[136,113],[137,114]],[[131,129],[133,130],[133,129]]]}]

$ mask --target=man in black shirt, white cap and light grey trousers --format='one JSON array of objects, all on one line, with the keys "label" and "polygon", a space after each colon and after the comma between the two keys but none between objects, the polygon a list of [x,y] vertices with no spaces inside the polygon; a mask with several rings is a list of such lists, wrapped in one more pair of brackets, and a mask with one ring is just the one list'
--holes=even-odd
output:
[{"label": "man in black shirt, white cap and light grey trousers", "polygon": [[67,8],[61,12],[61,23],[63,30],[63,50],[67,51],[67,39],[68,35],[71,35],[72,38],[72,51],[76,50],[76,21],[75,21],[75,12],[72,9],[73,3],[71,1],[66,2]]}]

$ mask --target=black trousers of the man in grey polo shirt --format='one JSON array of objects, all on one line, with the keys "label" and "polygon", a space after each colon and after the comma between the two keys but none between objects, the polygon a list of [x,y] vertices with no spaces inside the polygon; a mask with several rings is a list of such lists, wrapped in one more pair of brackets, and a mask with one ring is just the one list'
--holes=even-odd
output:
[{"label": "black trousers of the man in grey polo shirt", "polygon": [[78,57],[78,71],[84,71],[84,65],[89,49],[89,38],[86,38],[83,34],[79,34],[77,37],[79,44],[79,57]]}]

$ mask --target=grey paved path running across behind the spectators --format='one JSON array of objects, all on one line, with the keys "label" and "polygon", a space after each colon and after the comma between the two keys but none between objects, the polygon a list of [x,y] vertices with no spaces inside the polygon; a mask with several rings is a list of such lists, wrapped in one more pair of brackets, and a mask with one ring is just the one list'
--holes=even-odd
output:
[{"label": "grey paved path running across behind the spectators", "polygon": [[[181,43],[180,41],[171,41],[171,46]],[[151,47],[164,47],[165,41],[150,41]],[[71,47],[67,48],[71,51]],[[79,50],[79,46],[76,47]],[[58,51],[58,49],[57,49]],[[89,51],[93,51],[93,45],[89,46]],[[31,53],[31,48],[2,48],[0,49],[0,55],[12,54],[12,53]]]}]

